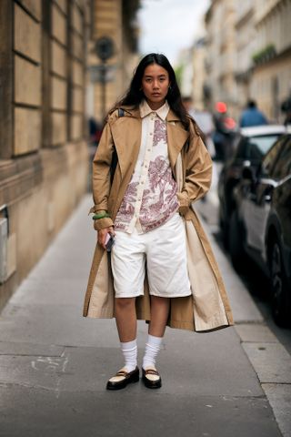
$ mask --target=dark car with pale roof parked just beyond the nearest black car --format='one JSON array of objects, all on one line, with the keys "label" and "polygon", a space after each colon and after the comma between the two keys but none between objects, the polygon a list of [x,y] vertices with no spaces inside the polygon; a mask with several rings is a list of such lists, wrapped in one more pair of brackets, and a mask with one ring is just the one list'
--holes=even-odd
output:
[{"label": "dark car with pale roof parked just beyond the nearest black car", "polygon": [[283,125],[244,127],[236,133],[234,154],[221,170],[218,180],[219,223],[225,246],[228,246],[229,223],[235,208],[234,188],[244,168],[256,168],[276,139],[286,132]]}]

